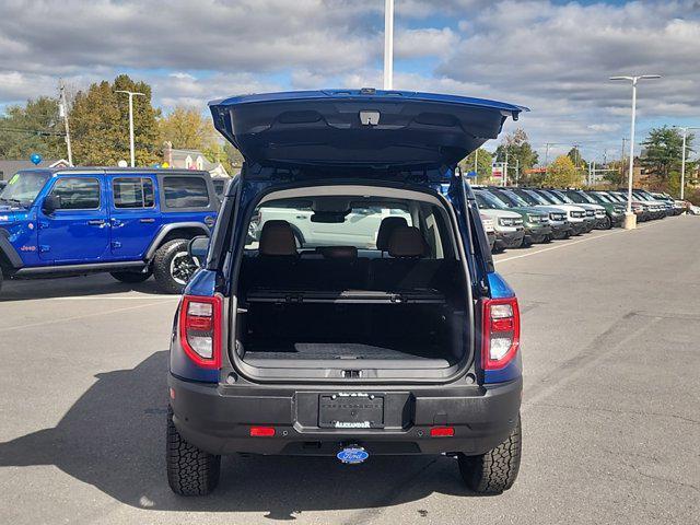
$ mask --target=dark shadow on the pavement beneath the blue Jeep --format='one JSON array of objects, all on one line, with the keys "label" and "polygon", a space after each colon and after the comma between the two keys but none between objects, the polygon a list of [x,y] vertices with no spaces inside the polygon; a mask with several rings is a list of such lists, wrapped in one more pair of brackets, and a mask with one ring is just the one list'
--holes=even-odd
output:
[{"label": "dark shadow on the pavement beneath the blue Jeep", "polygon": [[109,275],[7,280],[0,290],[0,303],[66,296],[105,295],[136,291],[160,295],[153,278],[138,284],[119,282]]}]

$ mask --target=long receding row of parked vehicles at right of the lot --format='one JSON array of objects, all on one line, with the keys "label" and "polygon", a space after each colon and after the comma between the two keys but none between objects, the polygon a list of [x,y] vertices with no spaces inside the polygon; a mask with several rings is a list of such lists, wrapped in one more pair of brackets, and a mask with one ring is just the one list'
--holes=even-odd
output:
[{"label": "long receding row of parked vehicles at right of the lot", "polygon": [[[495,253],[622,225],[623,190],[474,186],[483,229]],[[638,221],[682,213],[685,203],[666,194],[632,191]]]}]

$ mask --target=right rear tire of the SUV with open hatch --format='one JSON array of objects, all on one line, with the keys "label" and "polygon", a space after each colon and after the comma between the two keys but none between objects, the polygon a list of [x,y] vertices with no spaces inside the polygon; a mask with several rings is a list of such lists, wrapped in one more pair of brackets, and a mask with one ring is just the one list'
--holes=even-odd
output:
[{"label": "right rear tire of the SUV with open hatch", "polygon": [[521,420],[511,435],[492,451],[480,456],[459,454],[459,472],[467,487],[478,494],[500,494],[513,487],[521,466]]}]

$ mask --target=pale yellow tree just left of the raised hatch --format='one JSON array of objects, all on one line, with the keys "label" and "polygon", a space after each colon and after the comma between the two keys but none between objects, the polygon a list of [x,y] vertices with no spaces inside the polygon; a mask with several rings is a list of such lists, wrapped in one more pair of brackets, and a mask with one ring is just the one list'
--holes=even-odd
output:
[{"label": "pale yellow tree just left of the raised hatch", "polygon": [[177,106],[159,120],[161,143],[170,141],[175,149],[205,150],[214,142],[211,119],[197,109]]}]

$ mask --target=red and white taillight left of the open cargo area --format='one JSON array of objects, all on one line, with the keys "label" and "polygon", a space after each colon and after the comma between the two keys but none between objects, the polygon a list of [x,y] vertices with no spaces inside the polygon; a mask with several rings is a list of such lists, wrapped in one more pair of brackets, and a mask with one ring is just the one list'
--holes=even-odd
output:
[{"label": "red and white taillight left of the open cargo area", "polygon": [[179,311],[179,342],[202,369],[221,368],[221,296],[185,295]]}]

